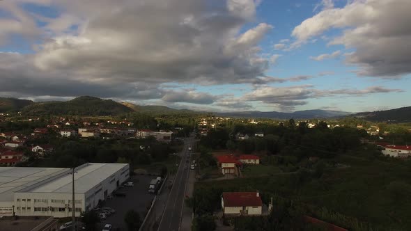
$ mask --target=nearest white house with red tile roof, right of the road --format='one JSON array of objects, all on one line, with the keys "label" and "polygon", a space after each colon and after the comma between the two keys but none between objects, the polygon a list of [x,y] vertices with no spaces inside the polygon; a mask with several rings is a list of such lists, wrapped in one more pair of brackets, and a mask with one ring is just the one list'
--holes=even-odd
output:
[{"label": "nearest white house with red tile roof, right of the road", "polygon": [[222,212],[224,216],[261,215],[263,201],[257,192],[223,193]]}]

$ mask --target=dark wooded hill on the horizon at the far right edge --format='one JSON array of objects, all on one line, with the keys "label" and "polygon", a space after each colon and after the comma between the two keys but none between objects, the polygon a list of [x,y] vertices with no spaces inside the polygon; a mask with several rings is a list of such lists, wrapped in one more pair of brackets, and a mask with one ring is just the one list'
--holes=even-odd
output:
[{"label": "dark wooded hill on the horizon at the far right edge", "polygon": [[411,122],[411,106],[386,111],[361,112],[353,116],[371,121]]}]

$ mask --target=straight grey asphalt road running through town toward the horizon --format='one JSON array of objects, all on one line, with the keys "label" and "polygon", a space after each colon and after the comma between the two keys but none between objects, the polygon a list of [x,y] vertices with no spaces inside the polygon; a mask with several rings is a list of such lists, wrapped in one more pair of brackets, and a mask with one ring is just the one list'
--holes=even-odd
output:
[{"label": "straight grey asphalt road running through town toward the horizon", "polygon": [[[189,175],[189,166],[191,165],[191,151],[188,149],[189,147],[193,147],[193,145],[194,135],[185,139],[183,152],[181,152],[180,166],[178,166],[178,171],[176,177],[174,178],[174,183],[171,188],[169,198],[166,202],[166,208],[164,209],[164,213],[157,231],[180,230],[185,191],[187,188],[187,180]],[[187,158],[189,158],[189,163],[186,163]],[[185,168],[185,166],[187,166],[187,168]]]}]

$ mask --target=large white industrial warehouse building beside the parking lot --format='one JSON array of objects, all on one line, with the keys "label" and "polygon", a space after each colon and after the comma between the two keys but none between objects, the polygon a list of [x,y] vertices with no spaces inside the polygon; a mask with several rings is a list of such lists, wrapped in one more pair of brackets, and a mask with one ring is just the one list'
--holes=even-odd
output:
[{"label": "large white industrial warehouse building beside the parking lot", "polygon": [[[71,173],[70,168],[0,167],[0,216],[71,216]],[[128,164],[75,168],[76,216],[96,207],[129,177]]]}]

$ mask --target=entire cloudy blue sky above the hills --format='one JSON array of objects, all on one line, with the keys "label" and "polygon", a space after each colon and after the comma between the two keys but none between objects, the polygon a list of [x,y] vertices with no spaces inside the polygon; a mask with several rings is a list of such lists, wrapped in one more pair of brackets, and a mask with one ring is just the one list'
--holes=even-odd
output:
[{"label": "entire cloudy blue sky above the hills", "polygon": [[0,97],[196,111],[411,106],[409,0],[3,0]]}]

